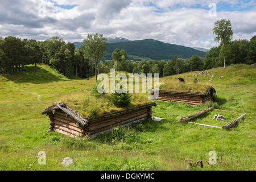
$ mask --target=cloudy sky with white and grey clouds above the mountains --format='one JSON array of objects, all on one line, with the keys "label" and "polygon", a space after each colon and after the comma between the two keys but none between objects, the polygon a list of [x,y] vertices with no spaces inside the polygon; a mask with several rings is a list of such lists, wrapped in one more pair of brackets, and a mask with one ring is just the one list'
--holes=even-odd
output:
[{"label": "cloudy sky with white and grey clouds above the mountains", "polygon": [[[236,7],[209,16],[209,3]],[[237,11],[237,7],[247,10]],[[252,7],[252,8],[248,8]],[[255,2],[214,0],[9,0],[0,5],[0,36],[45,40],[60,36],[81,41],[87,34],[122,36],[131,40],[156,39],[189,47],[216,46],[212,28],[225,18],[232,21],[234,39],[256,34]]]}]

